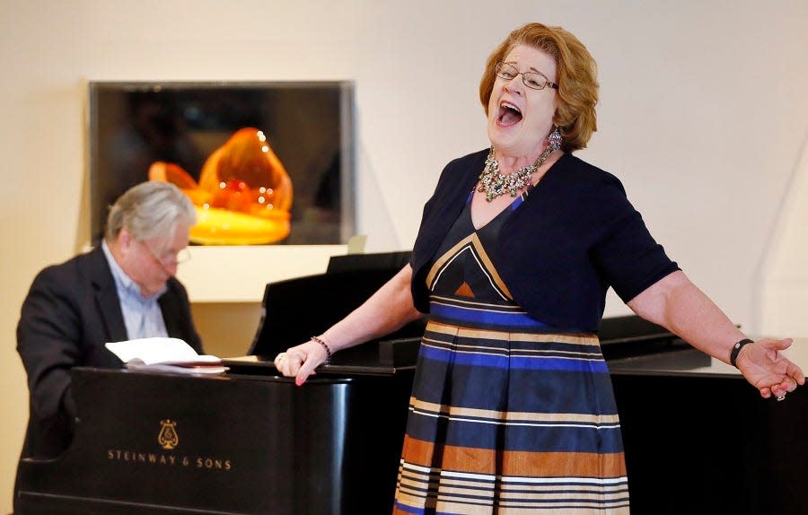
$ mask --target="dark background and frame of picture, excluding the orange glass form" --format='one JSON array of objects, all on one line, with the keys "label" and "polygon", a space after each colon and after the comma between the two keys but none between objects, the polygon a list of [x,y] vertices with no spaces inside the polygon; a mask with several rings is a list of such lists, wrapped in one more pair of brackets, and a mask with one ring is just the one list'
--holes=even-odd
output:
[{"label": "dark background and frame of picture, excluding the orange glass form", "polygon": [[109,206],[148,180],[154,162],[198,181],[211,154],[244,127],[266,136],[292,182],[290,229],[271,244],[345,244],[354,235],[352,82],[92,81],[88,94],[93,245]]}]

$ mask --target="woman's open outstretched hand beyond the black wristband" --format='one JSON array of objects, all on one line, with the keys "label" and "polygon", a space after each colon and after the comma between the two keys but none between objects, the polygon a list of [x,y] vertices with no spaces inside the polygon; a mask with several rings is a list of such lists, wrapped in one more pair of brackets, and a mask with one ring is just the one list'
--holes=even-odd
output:
[{"label": "woman's open outstretched hand beyond the black wristband", "polygon": [[805,374],[800,367],[780,353],[792,342],[791,338],[764,338],[741,349],[735,362],[743,377],[758,388],[761,397],[774,395],[782,399],[798,385],[805,384]]}]

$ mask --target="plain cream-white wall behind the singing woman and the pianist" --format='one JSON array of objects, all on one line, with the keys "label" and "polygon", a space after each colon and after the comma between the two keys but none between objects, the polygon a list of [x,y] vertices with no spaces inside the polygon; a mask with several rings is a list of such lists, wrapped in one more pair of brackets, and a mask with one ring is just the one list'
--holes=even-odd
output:
[{"label": "plain cream-white wall behind the singing woman and the pianist", "polygon": [[19,307],[86,242],[86,81],[355,80],[359,231],[368,250],[406,249],[444,163],[487,145],[479,74],[528,21],[565,26],[599,63],[600,131],[579,155],[623,179],[733,320],[767,330],[765,267],[804,237],[772,236],[789,188],[808,188],[802,0],[0,0],[0,511],[27,418]]}]

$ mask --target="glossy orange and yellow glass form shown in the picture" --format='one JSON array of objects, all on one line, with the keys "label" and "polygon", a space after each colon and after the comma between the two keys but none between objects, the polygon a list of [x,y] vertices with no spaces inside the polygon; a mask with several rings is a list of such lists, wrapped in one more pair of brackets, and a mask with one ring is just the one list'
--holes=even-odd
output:
[{"label": "glossy orange and yellow glass form shown in the picture", "polygon": [[275,243],[292,228],[292,179],[257,128],[239,129],[211,153],[198,183],[179,165],[164,161],[152,163],[149,180],[177,185],[196,205],[193,243]]}]

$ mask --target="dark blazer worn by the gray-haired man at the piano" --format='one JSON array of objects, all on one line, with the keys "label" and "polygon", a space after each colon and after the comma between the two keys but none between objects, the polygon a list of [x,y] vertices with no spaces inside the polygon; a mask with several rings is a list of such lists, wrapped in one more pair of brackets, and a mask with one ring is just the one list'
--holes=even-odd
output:
[{"label": "dark blazer worn by the gray-haired man at the piano", "polygon": [[[169,336],[202,354],[182,284],[171,278],[159,304]],[[31,392],[23,457],[50,458],[66,449],[76,416],[70,369],[121,368],[104,344],[126,339],[115,280],[101,247],[36,276],[17,325],[17,351]]]}]

